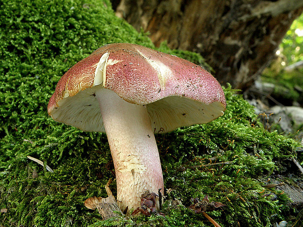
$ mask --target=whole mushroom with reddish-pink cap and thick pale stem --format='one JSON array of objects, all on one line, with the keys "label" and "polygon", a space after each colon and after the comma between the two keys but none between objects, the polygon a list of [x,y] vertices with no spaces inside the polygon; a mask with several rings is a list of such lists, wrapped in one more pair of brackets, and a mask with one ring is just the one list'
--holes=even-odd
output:
[{"label": "whole mushroom with reddish-pink cap and thick pale stem", "polygon": [[57,122],[106,132],[117,203],[131,210],[145,191],[164,192],[154,133],[208,123],[225,106],[220,84],[202,67],[144,46],[114,43],[63,75],[47,111]]}]

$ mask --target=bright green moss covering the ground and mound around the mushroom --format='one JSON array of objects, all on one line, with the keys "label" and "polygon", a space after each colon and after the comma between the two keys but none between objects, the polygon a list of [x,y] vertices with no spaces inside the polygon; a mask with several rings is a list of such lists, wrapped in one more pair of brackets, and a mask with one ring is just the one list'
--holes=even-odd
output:
[{"label": "bright green moss covering the ground and mound around the mushroom", "polygon": [[[64,72],[96,48],[153,44],[116,18],[108,0],[2,0],[0,29],[1,227],[210,227],[188,208],[206,195],[225,205],[208,212],[222,227],[270,227],[299,212],[282,191],[263,187],[285,160],[303,161],[299,144],[263,129],[253,107],[227,87],[223,117],[156,136],[168,189],[165,216],[102,221],[83,202],[106,197],[104,186],[113,179],[106,135],[54,122],[47,102]],[[160,50],[202,62],[165,44]],[[110,188],[115,194],[114,183]]]}]

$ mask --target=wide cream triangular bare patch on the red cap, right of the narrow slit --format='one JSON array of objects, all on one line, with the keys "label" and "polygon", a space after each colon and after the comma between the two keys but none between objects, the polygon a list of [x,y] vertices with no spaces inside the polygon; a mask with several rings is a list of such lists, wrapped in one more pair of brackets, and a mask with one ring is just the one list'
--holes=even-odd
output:
[{"label": "wide cream triangular bare patch on the red cap, right of the narrow slit", "polygon": [[157,71],[157,76],[158,76],[160,87],[161,87],[161,89],[165,88],[166,81],[173,75],[172,70],[169,67],[167,67],[167,65],[163,64],[162,62],[152,61],[149,57],[145,56],[139,50],[137,50],[137,51],[147,62],[150,63],[151,67]]}]

